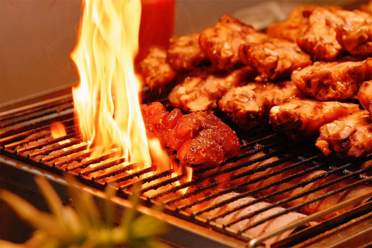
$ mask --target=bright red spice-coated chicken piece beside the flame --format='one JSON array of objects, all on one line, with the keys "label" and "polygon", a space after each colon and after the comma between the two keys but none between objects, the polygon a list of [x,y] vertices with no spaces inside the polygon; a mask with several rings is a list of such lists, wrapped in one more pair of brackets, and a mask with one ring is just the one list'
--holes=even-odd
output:
[{"label": "bright red spice-coated chicken piece beside the flame", "polygon": [[177,150],[177,159],[188,166],[217,166],[240,149],[235,132],[207,112],[170,113],[159,102],[141,105],[146,134]]}]

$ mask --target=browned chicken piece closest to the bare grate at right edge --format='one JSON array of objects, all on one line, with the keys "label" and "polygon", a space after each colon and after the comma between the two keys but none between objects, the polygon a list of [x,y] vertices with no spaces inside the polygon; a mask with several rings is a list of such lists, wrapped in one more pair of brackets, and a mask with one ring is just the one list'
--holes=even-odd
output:
[{"label": "browned chicken piece closest to the bare grate at right edge", "polygon": [[317,146],[324,155],[331,150],[338,157],[359,157],[363,153],[371,153],[372,121],[367,110],[357,111],[346,117],[320,127]]}]

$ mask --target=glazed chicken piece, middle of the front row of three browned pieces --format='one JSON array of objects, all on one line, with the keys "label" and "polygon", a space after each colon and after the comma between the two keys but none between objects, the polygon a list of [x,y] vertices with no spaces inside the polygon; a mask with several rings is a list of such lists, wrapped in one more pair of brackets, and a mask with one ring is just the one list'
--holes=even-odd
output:
[{"label": "glazed chicken piece, middle of the front row of three browned pieces", "polygon": [[318,136],[322,125],[356,111],[359,111],[358,104],[292,98],[272,107],[269,117],[274,130],[284,131],[294,140],[302,141]]}]

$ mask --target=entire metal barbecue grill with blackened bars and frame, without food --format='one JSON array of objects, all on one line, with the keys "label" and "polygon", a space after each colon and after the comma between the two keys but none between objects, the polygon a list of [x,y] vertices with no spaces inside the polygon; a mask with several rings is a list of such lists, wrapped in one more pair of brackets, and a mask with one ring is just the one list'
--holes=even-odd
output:
[{"label": "entire metal barbecue grill with blackened bars and frame, without food", "polygon": [[[144,88],[142,94],[144,102],[160,101],[167,106],[168,110],[171,109],[164,95],[154,97],[148,88]],[[361,164],[371,160],[370,156],[348,159],[339,159],[333,155],[325,157],[315,148],[314,141],[297,143],[285,134],[274,132],[270,127],[255,127],[250,131],[243,131],[235,126],[231,118],[227,117],[221,111],[215,110],[215,115],[228,124],[237,133],[241,141],[241,151],[239,154],[230,157],[219,167],[194,168],[193,178],[190,182],[183,181],[186,176],[185,174],[172,178],[171,170],[146,176],[146,173],[156,171],[156,166],[129,173],[138,164],[121,166],[109,172],[91,176],[93,172],[102,172],[105,169],[122,164],[124,159],[121,157],[121,154],[113,152],[103,154],[96,159],[87,160],[91,152],[88,150],[82,153],[82,151],[87,149],[87,145],[82,143],[82,138],[77,132],[71,88],[58,91],[57,97],[55,95],[56,92],[52,94],[54,97],[50,99],[47,99],[51,97],[50,94],[35,98],[34,103],[29,104],[30,101],[27,101],[28,105],[23,107],[15,106],[17,108],[6,111],[4,111],[4,108],[2,109],[0,115],[0,163],[1,186],[3,188],[23,188],[39,193],[33,182],[33,176],[45,176],[57,189],[64,203],[70,204],[71,199],[65,190],[67,182],[64,180],[64,173],[75,176],[78,179],[77,187],[90,192],[97,201],[101,201],[105,197],[103,189],[108,184],[119,185],[115,186],[117,190],[117,196],[114,198],[116,208],[122,210],[130,207],[131,203],[127,200],[128,197],[133,193],[139,193],[141,205],[138,206],[138,210],[143,214],[154,215],[167,221],[171,226],[170,232],[161,238],[174,246],[180,247],[256,247],[262,246],[262,242],[270,237],[282,234],[291,229],[295,229],[295,231],[288,238],[273,244],[272,247],[291,247],[293,245],[295,247],[322,247],[325,245],[331,247],[369,247],[372,244],[372,209],[370,200],[351,211],[344,212],[327,220],[322,219],[324,215],[360,202],[363,199],[370,198],[370,193],[341,200],[341,202],[330,205],[326,209],[314,212],[305,218],[300,218],[271,232],[264,232],[259,236],[251,236],[246,232],[248,229],[268,223],[278,216],[298,211],[301,207],[317,200],[344,192],[356,186],[371,185],[372,177],[371,174],[368,174],[372,170],[371,165],[364,168],[359,167]],[[42,98],[45,98],[45,100],[40,101]],[[22,103],[19,105],[22,105]],[[51,124],[57,121],[66,126],[67,135],[52,138],[49,129]],[[61,141],[68,142],[62,143]],[[174,150],[167,149],[166,152],[170,155],[171,159],[175,160]],[[273,157],[278,157],[279,160],[271,161],[252,169],[250,167],[255,163]],[[106,162],[106,160],[109,161]],[[292,163],[282,169],[262,174],[253,180],[221,188],[221,185],[228,185],[228,182],[242,179],[257,172],[263,172],[268,168],[275,168],[288,161],[292,161]],[[88,168],[90,165],[97,163],[99,163],[98,166]],[[305,169],[299,172],[296,171],[296,173],[290,176],[283,177],[266,185],[247,189],[249,185],[253,185],[261,180],[270,179],[273,176],[300,166],[305,166]],[[263,190],[290,182],[293,179],[317,170],[325,170],[326,173],[303,180],[300,183],[280,189],[269,195],[257,196]],[[279,201],[271,200],[273,197],[292,189],[304,187],[310,183],[317,182],[319,179],[335,174],[338,175],[336,179],[318,184],[310,190],[304,190],[301,194],[286,197]],[[140,176],[142,177],[140,178]],[[157,183],[151,183],[156,179],[158,179]],[[328,191],[323,195],[294,206],[285,207],[287,202],[347,179],[355,179],[355,182]],[[174,183],[179,180],[181,184],[175,186]],[[161,190],[160,193],[156,193],[155,195],[149,196],[147,194],[151,190],[165,186],[169,186],[170,188]],[[189,190],[185,194],[175,194],[177,190],[185,189],[186,187],[189,187]],[[211,190],[215,188],[218,188],[218,190]],[[219,196],[224,196],[232,192],[235,194],[231,198],[225,198],[217,202],[213,201]],[[203,213],[221,208],[228,203],[246,196],[257,197],[251,202],[244,203],[232,209],[230,208],[227,211],[219,211],[217,215],[215,214],[208,218],[203,215]],[[219,218],[223,218],[241,209],[249,208],[258,202],[269,202],[270,205],[244,215],[241,218],[234,219],[227,224],[218,222]],[[203,205],[203,203],[209,204]],[[196,205],[203,207],[198,208],[197,211],[195,211],[195,208],[194,211],[191,211],[190,209]],[[162,206],[163,211],[155,211],[151,208],[152,206]],[[244,226],[244,229],[237,230],[233,228],[235,223],[253,218],[277,206],[284,206],[285,208],[279,213]],[[114,222],[119,223],[119,215],[113,217]],[[310,221],[316,221],[318,225],[303,226]],[[347,235],[341,237],[340,234]]]}]

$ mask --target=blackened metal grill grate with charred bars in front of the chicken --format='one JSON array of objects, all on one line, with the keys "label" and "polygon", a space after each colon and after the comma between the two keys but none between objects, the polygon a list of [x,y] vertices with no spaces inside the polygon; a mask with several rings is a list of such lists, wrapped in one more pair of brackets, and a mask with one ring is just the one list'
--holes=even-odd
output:
[{"label": "blackened metal grill grate with charred bars in front of the chicken", "polygon": [[[167,99],[160,101],[167,103]],[[249,239],[247,235],[243,235],[248,229],[278,216],[303,211],[307,206],[315,206],[317,202],[356,187],[371,187],[371,165],[361,166],[370,161],[370,157],[325,157],[315,148],[314,141],[298,143],[268,127],[257,126],[250,131],[243,131],[221,111],[216,110],[215,115],[237,133],[241,150],[217,167],[194,168],[189,182],[186,180],[186,172],[172,176],[173,170],[157,172],[156,165],[143,168],[141,161],[128,164],[123,155],[115,151],[89,159],[94,144],[89,146],[83,143],[78,135],[71,97],[2,114],[1,154],[57,173],[71,173],[99,188],[111,185],[124,197],[139,193],[145,205],[161,205],[164,211],[172,215],[244,241]],[[65,136],[51,136],[49,129],[56,121],[65,125]],[[168,149],[166,152],[177,163],[175,151]],[[135,171],[136,168],[140,169]],[[297,189],[303,190],[300,192]],[[330,190],[321,195],[315,194],[324,189]],[[181,190],[184,192],[180,193]],[[224,199],[227,195],[229,197]],[[254,199],[218,211],[208,218],[203,217],[205,213],[223,209],[224,206],[247,197]],[[222,200],[214,202],[217,198]],[[219,222],[226,216],[259,202],[270,204],[226,223]],[[278,206],[283,207],[282,211],[244,225],[238,230],[231,228]],[[324,215],[326,214],[316,216],[317,220],[321,221]]]}]

